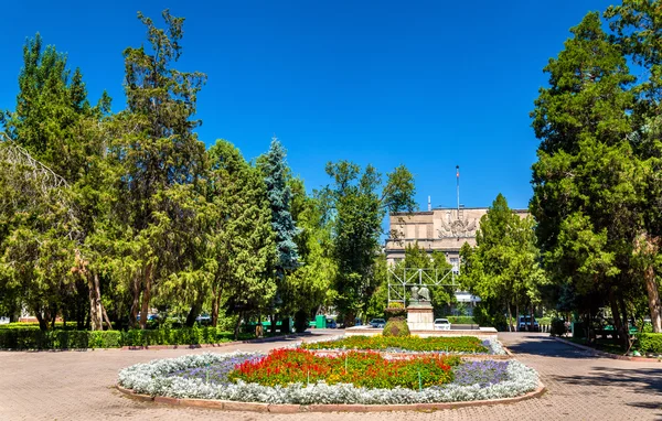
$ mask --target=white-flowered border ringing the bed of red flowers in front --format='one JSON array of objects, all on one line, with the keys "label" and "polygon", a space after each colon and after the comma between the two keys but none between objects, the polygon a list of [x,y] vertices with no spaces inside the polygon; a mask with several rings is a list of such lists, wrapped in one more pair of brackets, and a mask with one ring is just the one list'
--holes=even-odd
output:
[{"label": "white-flowered border ringing the bed of red flowers in front", "polygon": [[396,387],[394,389],[367,389],[349,384],[310,385],[293,384],[286,387],[268,387],[238,381],[231,385],[214,385],[202,379],[169,377],[170,373],[205,367],[239,355],[264,355],[259,353],[200,354],[172,359],[157,359],[137,364],[119,371],[119,386],[137,393],[172,398],[218,399],[264,403],[435,403],[471,400],[513,398],[538,387],[537,373],[517,360],[510,360],[508,379],[488,387],[444,385],[421,391]]}]

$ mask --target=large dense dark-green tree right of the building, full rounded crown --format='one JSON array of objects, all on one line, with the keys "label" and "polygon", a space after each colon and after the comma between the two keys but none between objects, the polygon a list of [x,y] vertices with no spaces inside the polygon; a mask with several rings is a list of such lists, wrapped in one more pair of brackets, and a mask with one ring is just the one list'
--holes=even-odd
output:
[{"label": "large dense dark-green tree right of the building, full rounded crown", "polygon": [[651,234],[643,199],[651,177],[632,141],[636,80],[597,13],[570,32],[545,67],[549,87],[541,89],[532,112],[541,145],[531,210],[552,280],[591,298],[576,301],[587,304],[581,312],[589,319],[596,300],[609,303],[624,338],[619,296],[633,287],[627,274],[638,256],[655,253],[637,246]]}]

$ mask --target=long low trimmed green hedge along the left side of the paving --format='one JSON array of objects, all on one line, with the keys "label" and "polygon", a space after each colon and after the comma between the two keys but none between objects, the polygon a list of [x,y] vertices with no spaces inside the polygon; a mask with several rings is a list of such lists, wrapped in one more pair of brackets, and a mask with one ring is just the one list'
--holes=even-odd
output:
[{"label": "long low trimmed green hedge along the left side of the paving", "polygon": [[[0,349],[86,349],[146,345],[220,344],[234,335],[216,327],[161,328],[153,331],[46,331],[0,330]],[[249,338],[253,335],[239,335]]]}]

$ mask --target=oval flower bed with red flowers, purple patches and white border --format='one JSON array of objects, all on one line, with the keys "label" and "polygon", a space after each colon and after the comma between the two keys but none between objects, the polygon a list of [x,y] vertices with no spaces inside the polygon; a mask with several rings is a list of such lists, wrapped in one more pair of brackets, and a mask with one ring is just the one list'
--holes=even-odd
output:
[{"label": "oval flower bed with red flowers, purple patches and white border", "polygon": [[[394,373],[402,380],[385,379],[396,377]],[[118,384],[137,393],[172,398],[397,404],[512,398],[535,390],[538,379],[535,370],[516,360],[439,356],[387,360],[374,353],[320,357],[280,349],[269,355],[202,354],[138,364],[121,370]]]}]

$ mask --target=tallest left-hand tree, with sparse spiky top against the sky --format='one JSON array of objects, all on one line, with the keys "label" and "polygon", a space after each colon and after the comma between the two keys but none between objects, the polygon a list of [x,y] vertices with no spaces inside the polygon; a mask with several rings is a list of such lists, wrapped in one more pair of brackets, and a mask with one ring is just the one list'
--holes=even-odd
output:
[{"label": "tallest left-hand tree, with sparse spiky top against the sky", "polygon": [[138,13],[151,50],[128,47],[125,93],[128,108],[116,116],[117,137],[109,147],[118,170],[109,237],[114,277],[131,294],[129,323],[146,327],[152,295],[160,283],[188,273],[201,240],[196,215],[201,212],[204,144],[193,132],[201,73],[172,68],[182,53],[183,18],[162,13],[167,29]]}]

